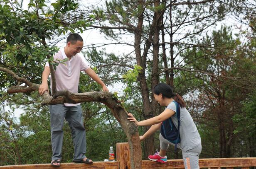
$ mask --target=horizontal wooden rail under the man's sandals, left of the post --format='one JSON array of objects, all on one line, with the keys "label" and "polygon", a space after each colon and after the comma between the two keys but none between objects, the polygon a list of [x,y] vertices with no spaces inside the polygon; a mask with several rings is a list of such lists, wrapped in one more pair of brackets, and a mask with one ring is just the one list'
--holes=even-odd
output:
[{"label": "horizontal wooden rail under the man's sandals, left of the post", "polygon": [[27,164],[0,166],[0,169],[119,169],[118,162],[94,162],[92,164],[62,163],[60,167],[51,164]]}]

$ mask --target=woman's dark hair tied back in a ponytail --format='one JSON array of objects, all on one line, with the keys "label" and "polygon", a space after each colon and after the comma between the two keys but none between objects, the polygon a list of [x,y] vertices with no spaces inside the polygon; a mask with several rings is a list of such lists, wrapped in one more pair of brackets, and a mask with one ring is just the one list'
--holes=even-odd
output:
[{"label": "woman's dark hair tied back in a ponytail", "polygon": [[155,85],[155,87],[153,88],[153,92],[156,95],[159,95],[161,93],[163,97],[174,99],[175,101],[177,101],[178,104],[180,104],[180,107],[186,107],[186,103],[182,99],[182,97],[178,94],[174,94],[172,87],[165,83],[159,83]]}]

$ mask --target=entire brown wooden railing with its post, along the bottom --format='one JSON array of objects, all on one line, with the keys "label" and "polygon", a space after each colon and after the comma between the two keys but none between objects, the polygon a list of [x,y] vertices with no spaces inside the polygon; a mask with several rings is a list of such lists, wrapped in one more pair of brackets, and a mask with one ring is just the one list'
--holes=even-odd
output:
[{"label": "entire brown wooden railing with its post, along the bottom", "polygon": [[[117,143],[116,162],[94,162],[92,164],[62,163],[60,167],[53,167],[50,164],[27,164],[0,166],[0,169],[130,169],[129,157],[128,143]],[[249,167],[256,167],[256,157],[199,159],[199,167],[205,169],[220,169],[220,167],[226,167],[226,169],[234,169],[234,167],[249,169]],[[143,160],[142,168],[184,169],[185,167],[182,159],[169,159],[165,164]]]}]

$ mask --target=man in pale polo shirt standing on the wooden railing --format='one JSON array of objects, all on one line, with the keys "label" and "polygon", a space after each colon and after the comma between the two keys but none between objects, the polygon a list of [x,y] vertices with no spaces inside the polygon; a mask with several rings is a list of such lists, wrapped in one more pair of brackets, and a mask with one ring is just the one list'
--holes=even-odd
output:
[{"label": "man in pale polo shirt standing on the wooden railing", "polygon": [[[55,70],[57,91],[69,90],[72,93],[78,92],[80,71],[84,70],[93,80],[102,86],[103,91],[108,92],[108,88],[96,75],[89,65],[87,65],[78,55],[82,50],[84,42],[79,34],[70,34],[66,40],[66,47],[55,54],[54,60],[64,60],[65,64],[59,64]],[[47,79],[50,75],[49,63],[46,63],[42,74],[42,85],[39,87],[39,94],[49,92]],[[52,85],[51,85],[52,86]],[[86,131],[83,125],[82,110],[78,104],[57,104],[49,108],[51,113],[51,142],[52,142],[52,162],[53,166],[60,166],[63,124],[64,118],[69,123],[74,145],[73,162],[92,163],[93,161],[85,156],[86,153]]]}]

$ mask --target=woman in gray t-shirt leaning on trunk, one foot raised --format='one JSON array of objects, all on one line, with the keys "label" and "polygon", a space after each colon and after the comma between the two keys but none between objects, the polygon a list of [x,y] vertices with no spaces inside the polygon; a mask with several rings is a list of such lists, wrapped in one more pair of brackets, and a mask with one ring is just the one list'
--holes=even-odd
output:
[{"label": "woman in gray t-shirt leaning on trunk, one foot raised", "polygon": [[[184,100],[179,95],[174,94],[172,88],[164,83],[156,85],[153,89],[153,93],[155,100],[158,101],[160,106],[166,106],[165,111],[158,116],[143,121],[137,121],[131,113],[128,113],[128,120],[135,122],[137,126],[152,125],[144,135],[140,136],[140,140],[144,140],[149,135],[159,130],[162,122],[167,121],[168,118],[171,118],[175,127],[178,128],[178,119],[177,116],[175,116],[176,104],[173,102],[176,101],[178,103],[177,105],[180,105],[180,143],[177,144],[177,147],[182,150],[185,169],[199,169],[198,160],[202,150],[201,138],[190,113],[185,108],[186,104]],[[165,154],[169,144],[175,144],[167,140],[166,135],[163,136],[161,133],[159,135],[160,152],[156,152],[154,155],[148,156],[148,158],[153,161],[165,163],[167,161]]]}]

